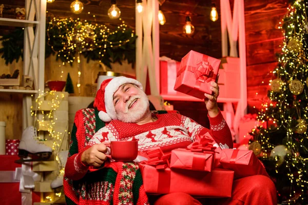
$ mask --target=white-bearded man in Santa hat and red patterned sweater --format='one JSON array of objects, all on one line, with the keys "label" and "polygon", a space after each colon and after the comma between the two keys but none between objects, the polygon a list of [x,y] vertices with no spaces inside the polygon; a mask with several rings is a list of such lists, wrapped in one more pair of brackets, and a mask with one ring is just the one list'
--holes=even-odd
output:
[{"label": "white-bearded man in Santa hat and red patterned sweater", "polygon": [[[173,149],[187,147],[198,134],[208,132],[218,144],[226,144],[229,148],[233,148],[230,130],[217,105],[219,87],[215,82],[211,82],[210,89],[213,95],[204,94],[210,122],[210,129],[207,129],[176,112],[151,113],[142,85],[135,79],[115,77],[103,81],[95,97],[94,107],[100,111],[98,114],[100,119],[108,124],[91,137],[82,151],[68,158],[65,167],[66,177],[80,180],[89,171],[95,171],[107,165],[111,166],[114,162],[106,161],[108,149],[105,144],[109,141],[138,140],[139,151],[160,147],[163,152],[168,153]],[[91,180],[95,179],[91,178]],[[101,186],[101,188],[96,186]],[[84,193],[87,191],[84,189],[83,194],[90,195],[91,199],[85,197],[82,203],[108,204],[110,202],[108,199],[101,200],[99,197],[102,195],[101,192],[106,191],[102,186],[104,186],[103,183],[95,185],[95,189],[91,189],[91,192],[95,193]],[[230,198],[197,200],[185,193],[171,193],[163,196],[148,195],[148,198],[150,203],[156,205],[277,204],[274,183],[271,179],[261,175],[235,180]]]}]

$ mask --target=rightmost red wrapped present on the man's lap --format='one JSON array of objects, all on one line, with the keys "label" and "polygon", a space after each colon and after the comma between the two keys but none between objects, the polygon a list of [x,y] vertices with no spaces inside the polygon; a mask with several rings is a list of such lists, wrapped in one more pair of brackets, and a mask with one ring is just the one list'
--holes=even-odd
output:
[{"label": "rightmost red wrapped present on the man's lap", "polygon": [[234,171],[235,179],[253,175],[269,177],[252,150],[223,149],[220,163],[223,169]]}]

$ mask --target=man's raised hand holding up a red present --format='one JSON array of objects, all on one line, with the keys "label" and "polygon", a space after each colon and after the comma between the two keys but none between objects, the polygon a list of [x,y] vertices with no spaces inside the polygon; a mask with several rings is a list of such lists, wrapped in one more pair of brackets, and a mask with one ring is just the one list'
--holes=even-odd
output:
[{"label": "man's raised hand holding up a red present", "polygon": [[218,105],[217,105],[217,97],[219,95],[219,87],[218,84],[214,81],[210,82],[210,90],[213,91],[213,95],[204,94],[204,103],[206,106],[206,109],[208,111],[208,115],[210,117],[216,117],[219,113]]}]

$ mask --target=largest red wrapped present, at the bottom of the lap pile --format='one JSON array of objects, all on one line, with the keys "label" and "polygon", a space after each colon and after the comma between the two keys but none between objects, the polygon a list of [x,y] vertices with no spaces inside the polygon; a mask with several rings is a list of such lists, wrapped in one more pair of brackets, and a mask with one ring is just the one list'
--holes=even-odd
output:
[{"label": "largest red wrapped present, at the bottom of the lap pile", "polygon": [[147,153],[150,159],[141,163],[146,193],[183,192],[192,196],[230,197],[234,171],[214,169],[211,172],[169,168],[169,155],[160,149]]}]

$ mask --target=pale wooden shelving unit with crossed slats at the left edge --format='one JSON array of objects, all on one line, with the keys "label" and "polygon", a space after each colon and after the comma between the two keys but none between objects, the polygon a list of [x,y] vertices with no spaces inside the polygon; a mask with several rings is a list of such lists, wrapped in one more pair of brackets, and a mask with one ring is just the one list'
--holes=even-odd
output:
[{"label": "pale wooden shelving unit with crossed slats at the left edge", "polygon": [[[0,93],[23,94],[23,129],[33,125],[32,100],[38,91],[44,91],[46,4],[46,0],[25,0],[25,19],[0,18],[0,29],[3,26],[24,28],[23,74],[33,78],[35,90],[0,89]],[[32,192],[22,193],[22,198],[32,201]]]}]

